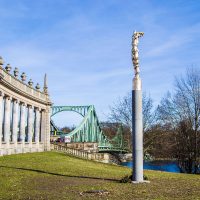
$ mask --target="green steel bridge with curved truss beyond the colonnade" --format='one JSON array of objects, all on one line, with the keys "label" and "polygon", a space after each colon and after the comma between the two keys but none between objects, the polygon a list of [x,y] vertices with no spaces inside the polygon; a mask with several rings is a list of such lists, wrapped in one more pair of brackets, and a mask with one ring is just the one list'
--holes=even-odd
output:
[{"label": "green steel bridge with curved truss beyond the colonnade", "polygon": [[60,112],[76,112],[83,117],[80,125],[70,133],[59,130],[51,119],[51,134],[67,136],[71,142],[97,142],[101,152],[127,152],[125,148],[122,126],[114,138],[109,139],[102,131],[93,105],[89,106],[53,106],[51,117]]}]

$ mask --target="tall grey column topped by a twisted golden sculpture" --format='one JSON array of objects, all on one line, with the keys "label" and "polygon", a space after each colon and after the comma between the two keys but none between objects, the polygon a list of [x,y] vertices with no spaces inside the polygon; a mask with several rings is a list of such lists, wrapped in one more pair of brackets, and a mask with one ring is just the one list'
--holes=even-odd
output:
[{"label": "tall grey column topped by a twisted golden sculpture", "polygon": [[132,143],[133,174],[132,183],[144,182],[143,179],[143,119],[142,119],[142,81],[139,69],[138,43],[143,32],[134,32],[132,37],[132,62],[134,78],[132,88]]}]

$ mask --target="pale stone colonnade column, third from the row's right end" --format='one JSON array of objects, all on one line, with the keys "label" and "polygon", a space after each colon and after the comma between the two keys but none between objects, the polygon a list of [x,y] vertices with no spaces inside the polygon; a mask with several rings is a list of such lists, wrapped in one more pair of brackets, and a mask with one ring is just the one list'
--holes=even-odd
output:
[{"label": "pale stone colonnade column, third from the row's right end", "polygon": [[24,148],[25,142],[25,104],[20,104],[20,128],[19,128],[19,141],[22,142],[22,148]]}]

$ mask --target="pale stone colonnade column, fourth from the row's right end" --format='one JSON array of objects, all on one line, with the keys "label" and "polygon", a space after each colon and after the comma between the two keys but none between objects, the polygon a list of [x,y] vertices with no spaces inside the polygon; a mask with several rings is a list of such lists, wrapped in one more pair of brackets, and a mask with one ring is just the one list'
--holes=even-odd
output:
[{"label": "pale stone colonnade column, fourth from the row's right end", "polygon": [[17,147],[17,133],[18,133],[18,101],[13,101],[13,122],[12,122],[12,141]]}]

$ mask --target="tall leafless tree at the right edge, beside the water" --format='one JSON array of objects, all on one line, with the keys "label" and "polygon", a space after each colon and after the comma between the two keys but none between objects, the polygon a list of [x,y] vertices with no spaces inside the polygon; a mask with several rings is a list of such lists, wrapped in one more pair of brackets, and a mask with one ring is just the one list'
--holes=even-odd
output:
[{"label": "tall leafless tree at the right edge, beside the water", "polygon": [[159,119],[174,131],[175,156],[183,172],[200,170],[200,71],[188,69],[176,78],[174,94],[168,93],[158,106]]}]

